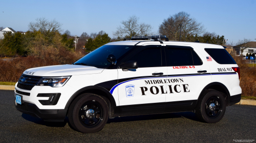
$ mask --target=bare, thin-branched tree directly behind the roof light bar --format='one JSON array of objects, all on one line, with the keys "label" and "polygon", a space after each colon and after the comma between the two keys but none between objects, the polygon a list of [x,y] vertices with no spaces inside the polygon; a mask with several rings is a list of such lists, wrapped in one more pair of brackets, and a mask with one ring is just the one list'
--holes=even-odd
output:
[{"label": "bare, thin-branched tree directly behind the roof light bar", "polygon": [[152,26],[150,24],[140,23],[139,17],[133,15],[126,21],[121,21],[122,25],[117,27],[113,35],[120,38],[132,38],[132,36],[146,36],[151,34]]}]

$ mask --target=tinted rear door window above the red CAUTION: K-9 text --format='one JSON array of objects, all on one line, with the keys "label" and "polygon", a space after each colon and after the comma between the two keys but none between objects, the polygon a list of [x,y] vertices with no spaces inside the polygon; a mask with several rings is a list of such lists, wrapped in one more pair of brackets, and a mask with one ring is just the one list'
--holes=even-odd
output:
[{"label": "tinted rear door window above the red CAUTION: K-9 text", "polygon": [[167,47],[166,59],[168,66],[198,66],[203,64],[192,48]]}]

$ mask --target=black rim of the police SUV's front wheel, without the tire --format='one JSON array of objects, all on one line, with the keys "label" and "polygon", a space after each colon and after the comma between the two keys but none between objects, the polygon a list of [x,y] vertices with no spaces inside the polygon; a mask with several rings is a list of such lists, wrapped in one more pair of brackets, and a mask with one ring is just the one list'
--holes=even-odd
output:
[{"label": "black rim of the police SUV's front wheel, without the tire", "polygon": [[83,126],[92,128],[102,121],[103,110],[96,101],[89,101],[80,107],[78,116]]}]

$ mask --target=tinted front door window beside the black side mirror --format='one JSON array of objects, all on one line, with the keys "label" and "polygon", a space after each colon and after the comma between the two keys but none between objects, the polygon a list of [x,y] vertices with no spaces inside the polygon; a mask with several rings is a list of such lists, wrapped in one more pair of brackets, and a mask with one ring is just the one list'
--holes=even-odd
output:
[{"label": "tinted front door window beside the black side mirror", "polygon": [[126,61],[137,61],[139,68],[145,67],[161,67],[162,55],[160,47],[146,48]]}]

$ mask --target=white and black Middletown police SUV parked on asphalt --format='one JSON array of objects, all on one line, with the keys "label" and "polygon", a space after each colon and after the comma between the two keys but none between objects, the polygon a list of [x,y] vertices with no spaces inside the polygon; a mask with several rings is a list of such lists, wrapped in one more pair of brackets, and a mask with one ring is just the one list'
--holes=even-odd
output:
[{"label": "white and black Middletown police SUV parked on asphalt", "polygon": [[68,117],[75,130],[92,133],[109,118],[168,112],[193,111],[217,123],[240,101],[240,69],[223,46],[165,36],[125,40],[72,65],[26,70],[15,85],[16,109],[45,121]]}]

